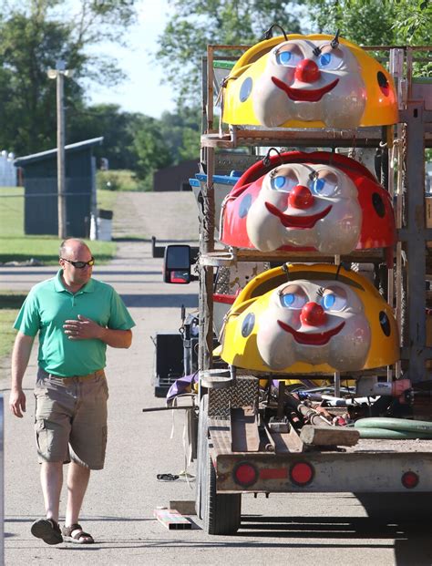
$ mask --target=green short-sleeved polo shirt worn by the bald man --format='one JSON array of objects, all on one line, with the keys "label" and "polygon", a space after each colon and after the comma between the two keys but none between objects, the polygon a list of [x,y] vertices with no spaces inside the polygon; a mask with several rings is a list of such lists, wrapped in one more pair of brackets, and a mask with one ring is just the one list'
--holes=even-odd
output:
[{"label": "green short-sleeved polo shirt worn by the bald man", "polygon": [[106,365],[107,345],[101,340],[68,340],[66,320],[81,314],[101,326],[129,330],[135,326],[118,293],[90,279],[77,293],[63,286],[62,270],[56,277],[36,284],[16,317],[14,328],[28,336],[39,333],[38,363],[56,376],[86,376]]}]

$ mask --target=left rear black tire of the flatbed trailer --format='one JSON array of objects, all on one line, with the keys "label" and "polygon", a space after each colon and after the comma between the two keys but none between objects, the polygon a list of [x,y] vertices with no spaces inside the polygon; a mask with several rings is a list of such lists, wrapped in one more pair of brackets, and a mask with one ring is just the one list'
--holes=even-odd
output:
[{"label": "left rear black tire of the flatbed trailer", "polygon": [[197,515],[204,521],[208,534],[231,535],[240,527],[242,494],[216,493],[216,472],[211,462],[208,438],[209,396],[200,403],[197,459]]}]

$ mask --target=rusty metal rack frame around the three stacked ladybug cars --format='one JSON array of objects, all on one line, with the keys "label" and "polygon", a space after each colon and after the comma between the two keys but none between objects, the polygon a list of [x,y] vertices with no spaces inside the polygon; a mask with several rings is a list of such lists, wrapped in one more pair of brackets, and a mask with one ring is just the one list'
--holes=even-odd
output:
[{"label": "rusty metal rack frame around the three stacked ladybug cars", "polygon": [[[432,241],[432,229],[426,228],[425,215],[425,148],[432,147],[432,110],[426,101],[415,100],[413,96],[413,64],[416,57],[431,60],[432,46],[368,46],[367,51],[388,52],[390,70],[396,79],[399,95],[399,122],[395,126],[358,129],[264,129],[229,127],[225,133],[214,129],[214,88],[213,61],[217,52],[244,50],[249,46],[208,46],[207,57],[202,65],[202,130],[201,160],[207,165],[207,184],[203,191],[204,221],[201,224],[200,260],[200,350],[199,366],[202,370],[212,366],[212,287],[213,267],[233,261],[278,261],[283,259],[304,261],[304,253],[254,251],[229,251],[214,249],[214,154],[215,149],[234,149],[239,146],[295,145],[318,147],[379,147],[383,144],[392,149],[405,130],[406,155],[399,151],[398,175],[405,172],[406,192],[402,183],[396,191],[396,221],[398,242],[396,245],[396,285],[393,284],[393,270],[388,276],[390,298],[396,293],[396,319],[401,321],[401,294],[403,286],[402,253],[407,257],[407,323],[406,344],[401,347],[401,360],[406,364],[406,376],[413,383],[428,378],[426,362],[432,359],[432,347],[427,347],[426,331],[426,258],[427,241]],[[426,54],[426,56],[424,55]],[[226,57],[224,57],[226,58]],[[422,59],[425,60],[425,59]],[[432,93],[432,85],[430,86]],[[431,94],[432,98],[432,94]],[[295,141],[295,144],[293,143]],[[420,163],[419,163],[419,156]],[[394,171],[390,164],[390,187],[393,191]],[[405,199],[405,201],[404,201]],[[405,213],[406,221],[403,222]],[[230,257],[230,253],[231,256]],[[307,254],[306,261],[334,261],[320,254]],[[380,262],[380,251],[353,252],[344,257],[351,262]],[[401,332],[405,329],[400,329]],[[392,372],[389,378],[392,378]],[[396,365],[396,376],[400,375],[400,363]]]}]

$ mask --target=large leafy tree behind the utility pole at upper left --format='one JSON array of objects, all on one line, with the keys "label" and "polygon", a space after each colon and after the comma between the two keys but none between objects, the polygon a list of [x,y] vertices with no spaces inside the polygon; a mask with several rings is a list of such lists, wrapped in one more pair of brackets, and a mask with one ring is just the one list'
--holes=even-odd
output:
[{"label": "large leafy tree behind the utility pole at upper left", "polygon": [[[56,145],[56,86],[48,67],[64,59],[74,70],[65,81],[67,107],[83,104],[88,80],[113,84],[116,62],[90,47],[106,39],[123,42],[134,21],[129,3],[78,0],[14,0],[0,15],[0,147],[16,154]],[[68,139],[67,139],[68,141]]]}]

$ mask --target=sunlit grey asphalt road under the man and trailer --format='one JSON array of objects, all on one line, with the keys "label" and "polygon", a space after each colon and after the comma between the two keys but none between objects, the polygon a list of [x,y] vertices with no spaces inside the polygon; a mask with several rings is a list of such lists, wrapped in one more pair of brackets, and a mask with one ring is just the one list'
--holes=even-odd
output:
[{"label": "sunlit grey asphalt road under the man and trailer", "polygon": [[[141,211],[144,220],[131,221],[128,230],[138,233],[140,227],[146,238],[154,234],[160,240],[188,240],[196,233],[190,232],[194,217],[185,221],[172,203],[164,201],[159,211],[158,202],[151,208],[147,196],[144,208],[139,195],[131,198],[129,211]],[[181,205],[188,198],[183,195]],[[168,227],[160,222],[167,218],[167,206]],[[196,306],[196,283],[165,285],[160,269],[161,260],[150,256],[149,241],[121,242],[117,259],[94,273],[116,287],[137,323],[131,348],[108,352],[108,458],[106,468],[92,474],[81,518],[94,545],[49,547],[30,534],[31,523],[43,514],[33,437],[33,356],[25,380],[26,417],[5,411],[6,564],[432,564],[429,525],[373,522],[351,494],[243,496],[242,528],[231,537],[206,535],[196,517],[190,518],[192,530],[166,530],[154,519],[154,509],[170,500],[194,498],[193,480],[157,479],[159,473],[178,474],[185,467],[182,411],[141,411],[164,405],[153,395],[150,336],[179,327],[180,304],[190,310]],[[54,271],[3,267],[0,289],[26,290]],[[0,385],[7,409],[7,384]],[[63,492],[62,512],[65,500]]]}]

